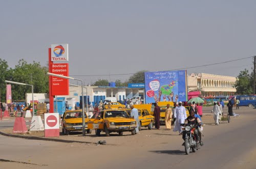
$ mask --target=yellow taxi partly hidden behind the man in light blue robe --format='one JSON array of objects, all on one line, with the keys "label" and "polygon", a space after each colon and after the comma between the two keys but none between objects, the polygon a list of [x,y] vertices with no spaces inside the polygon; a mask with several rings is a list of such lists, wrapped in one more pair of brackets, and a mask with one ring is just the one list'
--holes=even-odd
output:
[{"label": "yellow taxi partly hidden behind the man in light blue robe", "polygon": [[[154,116],[150,115],[150,112],[147,111],[147,109],[143,108],[137,108],[139,112],[139,130],[141,130],[141,127],[147,127],[148,129],[153,128],[153,122],[154,122]],[[127,113],[131,115],[131,109],[126,109]]]}]

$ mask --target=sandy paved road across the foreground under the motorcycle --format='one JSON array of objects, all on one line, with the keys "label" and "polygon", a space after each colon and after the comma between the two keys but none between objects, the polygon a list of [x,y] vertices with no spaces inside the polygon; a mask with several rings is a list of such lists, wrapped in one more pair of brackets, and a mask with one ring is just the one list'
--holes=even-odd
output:
[{"label": "sandy paved road across the foreground under the motorcycle", "polygon": [[[236,113],[242,115],[232,117],[229,124],[205,126],[205,145],[189,155],[185,155],[179,135],[162,130],[111,136],[123,145],[104,146],[0,135],[0,159],[31,163],[0,160],[0,168],[256,168],[256,109],[244,108]],[[125,143],[125,139],[129,141]]]}]

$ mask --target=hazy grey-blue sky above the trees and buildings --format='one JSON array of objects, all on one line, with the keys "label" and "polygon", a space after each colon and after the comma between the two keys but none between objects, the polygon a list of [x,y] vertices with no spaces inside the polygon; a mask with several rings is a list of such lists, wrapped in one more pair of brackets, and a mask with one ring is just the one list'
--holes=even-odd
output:
[{"label": "hazy grey-blue sky above the trees and buildings", "polygon": [[68,43],[69,75],[86,85],[141,70],[238,76],[256,55],[253,0],[0,2],[0,58],[9,67],[20,59],[46,66],[51,44]]}]

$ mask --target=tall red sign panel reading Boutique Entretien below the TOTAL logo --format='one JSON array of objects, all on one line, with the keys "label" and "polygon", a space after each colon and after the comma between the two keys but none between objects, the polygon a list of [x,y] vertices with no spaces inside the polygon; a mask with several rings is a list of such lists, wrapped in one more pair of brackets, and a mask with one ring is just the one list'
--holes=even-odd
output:
[{"label": "tall red sign panel reading Boutique Entretien below the TOTAL logo", "polygon": [[[52,64],[51,73],[69,76],[69,64]],[[56,76],[51,76],[51,78],[52,96],[69,95],[69,79]]]}]

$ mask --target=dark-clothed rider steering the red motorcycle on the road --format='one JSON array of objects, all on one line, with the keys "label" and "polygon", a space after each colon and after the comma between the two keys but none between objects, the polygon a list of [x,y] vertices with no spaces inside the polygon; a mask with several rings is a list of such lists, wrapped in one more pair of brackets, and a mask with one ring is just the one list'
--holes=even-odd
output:
[{"label": "dark-clothed rider steering the red motorcycle on the road", "polygon": [[[198,129],[198,126],[201,126],[202,125],[202,122],[201,120],[196,117],[195,115],[195,110],[193,108],[191,108],[189,110],[189,115],[187,117],[187,119],[185,119],[185,123],[188,123],[188,124],[196,124],[196,129],[194,130],[194,133],[195,133],[195,136],[196,136],[196,139],[197,139],[197,147],[199,147],[199,143],[200,143],[200,140],[202,139],[202,133],[201,133],[201,130]],[[182,138],[185,140],[185,132],[183,132],[183,135],[182,135]],[[185,142],[182,144],[182,146],[185,145]]]}]

